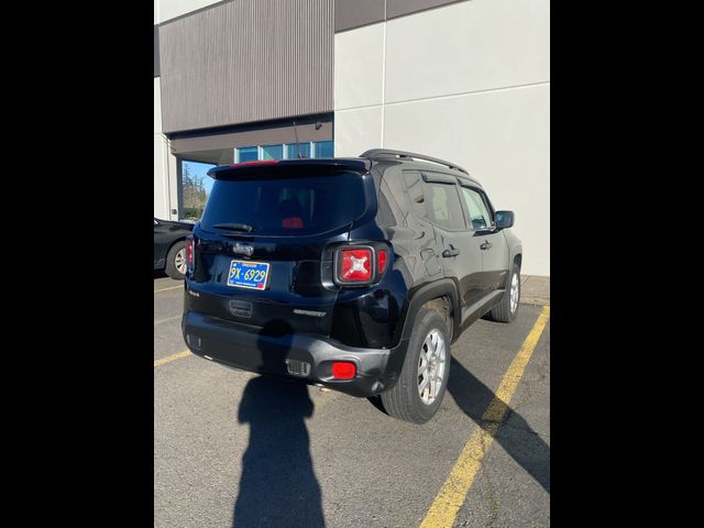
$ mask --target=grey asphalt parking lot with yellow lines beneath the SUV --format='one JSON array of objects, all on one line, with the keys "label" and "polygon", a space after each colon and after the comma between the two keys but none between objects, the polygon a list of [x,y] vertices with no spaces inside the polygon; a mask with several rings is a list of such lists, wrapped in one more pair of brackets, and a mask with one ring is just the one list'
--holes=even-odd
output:
[{"label": "grey asphalt parking lot with yellow lines beneath the SUV", "polygon": [[182,309],[155,276],[155,527],[550,525],[549,307],[465,331],[424,426],[194,356]]}]

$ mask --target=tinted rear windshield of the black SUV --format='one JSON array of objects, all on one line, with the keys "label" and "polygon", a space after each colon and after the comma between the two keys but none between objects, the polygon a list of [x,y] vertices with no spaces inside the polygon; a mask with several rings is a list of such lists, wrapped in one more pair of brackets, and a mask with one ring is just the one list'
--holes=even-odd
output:
[{"label": "tinted rear windshield of the black SUV", "polygon": [[364,187],[356,173],[257,174],[217,179],[200,224],[208,231],[228,231],[222,224],[251,226],[254,235],[318,234],[353,222],[364,209]]}]

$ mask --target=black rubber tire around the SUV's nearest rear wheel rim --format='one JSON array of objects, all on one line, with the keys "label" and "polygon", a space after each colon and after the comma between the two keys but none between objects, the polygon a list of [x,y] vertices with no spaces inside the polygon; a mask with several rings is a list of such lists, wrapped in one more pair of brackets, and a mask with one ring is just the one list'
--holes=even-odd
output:
[{"label": "black rubber tire around the SUV's nearest rear wheel rim", "polygon": [[[442,397],[448,387],[448,377],[450,376],[450,336],[448,328],[435,310],[421,308],[413,321],[414,331],[408,341],[408,351],[404,360],[398,382],[393,388],[382,393],[382,404],[389,416],[399,420],[409,421],[411,424],[425,424],[440,408]],[[444,343],[444,363],[442,369],[442,378],[440,380],[440,388],[435,399],[430,404],[424,403],[419,393],[419,374],[420,355],[424,349],[426,337],[432,330],[437,330]]]}]

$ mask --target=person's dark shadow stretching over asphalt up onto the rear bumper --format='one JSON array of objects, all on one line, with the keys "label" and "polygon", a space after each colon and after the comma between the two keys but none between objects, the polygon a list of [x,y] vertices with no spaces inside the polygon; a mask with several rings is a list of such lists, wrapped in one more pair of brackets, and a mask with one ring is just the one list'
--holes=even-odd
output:
[{"label": "person's dark shadow stretching over asphalt up onto the rear bumper", "polygon": [[[263,366],[272,361],[272,351],[261,336],[272,331],[293,333],[283,324],[275,321],[260,334],[257,349]],[[312,413],[314,403],[302,383],[261,376],[246,384],[238,421],[250,424],[250,442],[242,455],[232,526],[326,526],[304,422]]]}]

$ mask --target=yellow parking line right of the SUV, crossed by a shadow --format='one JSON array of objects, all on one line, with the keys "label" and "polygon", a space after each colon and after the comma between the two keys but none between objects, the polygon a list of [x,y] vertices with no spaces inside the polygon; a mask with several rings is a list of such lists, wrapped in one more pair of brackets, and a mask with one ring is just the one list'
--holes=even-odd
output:
[{"label": "yellow parking line right of the SUV, crossed by a shadow", "polygon": [[510,398],[524,375],[526,365],[530,361],[530,356],[538,344],[538,339],[540,339],[549,317],[550,306],[546,306],[504,374],[494,399],[482,417],[482,427],[477,427],[468,440],[454,468],[452,468],[436,499],[430,505],[426,517],[422,519],[420,528],[452,527],[458,512],[474,482],[474,476],[482,465],[482,459],[492,444],[494,435],[496,435],[498,426],[506,415]]}]

